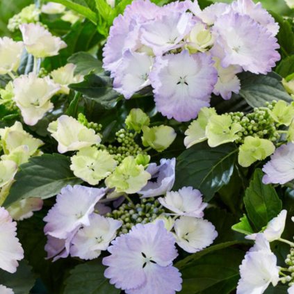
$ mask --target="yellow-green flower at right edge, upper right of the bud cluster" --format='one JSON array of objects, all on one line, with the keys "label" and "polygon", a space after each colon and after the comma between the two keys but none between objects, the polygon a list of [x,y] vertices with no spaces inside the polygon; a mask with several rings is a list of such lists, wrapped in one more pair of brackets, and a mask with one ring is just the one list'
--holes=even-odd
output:
[{"label": "yellow-green flower at right edge, upper right of the bud cluster", "polygon": [[286,101],[279,100],[270,111],[270,116],[275,122],[289,126],[294,117],[294,104],[287,104]]}]

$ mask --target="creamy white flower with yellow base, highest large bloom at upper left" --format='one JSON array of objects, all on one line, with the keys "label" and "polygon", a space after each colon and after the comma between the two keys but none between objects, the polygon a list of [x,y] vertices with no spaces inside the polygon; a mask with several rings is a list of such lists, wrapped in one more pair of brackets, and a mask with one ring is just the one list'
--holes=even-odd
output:
[{"label": "creamy white flower with yellow base, highest large bloom at upper left", "polygon": [[22,24],[19,26],[24,46],[29,54],[37,58],[58,55],[58,51],[67,47],[59,37],[54,37],[40,24]]}]

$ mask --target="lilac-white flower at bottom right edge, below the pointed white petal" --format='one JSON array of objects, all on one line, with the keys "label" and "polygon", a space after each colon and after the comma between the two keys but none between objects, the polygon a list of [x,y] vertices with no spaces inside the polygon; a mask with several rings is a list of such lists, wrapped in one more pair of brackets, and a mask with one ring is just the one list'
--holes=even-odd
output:
[{"label": "lilac-white flower at bottom right edge, below the pointed white petal", "polygon": [[263,234],[256,236],[256,245],[245,254],[240,265],[240,276],[237,294],[262,294],[270,283],[277,285],[277,257],[270,251],[270,245]]}]

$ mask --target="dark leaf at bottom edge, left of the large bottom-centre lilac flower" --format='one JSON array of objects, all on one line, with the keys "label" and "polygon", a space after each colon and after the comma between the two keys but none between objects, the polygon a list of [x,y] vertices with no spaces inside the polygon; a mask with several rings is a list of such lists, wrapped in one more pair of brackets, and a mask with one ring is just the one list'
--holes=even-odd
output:
[{"label": "dark leaf at bottom edge, left of the large bottom-centre lilac flower", "polygon": [[65,280],[64,294],[119,294],[120,290],[104,277],[101,259],[88,261],[70,271]]}]

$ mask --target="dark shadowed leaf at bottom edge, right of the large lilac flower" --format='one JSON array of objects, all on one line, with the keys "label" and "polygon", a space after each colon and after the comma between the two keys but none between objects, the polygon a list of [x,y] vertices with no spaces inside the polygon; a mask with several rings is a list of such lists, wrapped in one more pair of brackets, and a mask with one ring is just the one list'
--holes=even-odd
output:
[{"label": "dark shadowed leaf at bottom edge, right of the large lilac flower", "polygon": [[[180,268],[183,278],[181,294],[196,294],[202,293],[202,291],[209,293],[211,287],[217,288],[220,285],[224,289],[221,293],[228,294],[236,288],[239,266],[244,257],[244,252],[228,248],[226,245],[224,245],[225,247],[220,246],[220,250],[202,254],[198,259]],[[201,253],[199,252],[199,254]]]}]

